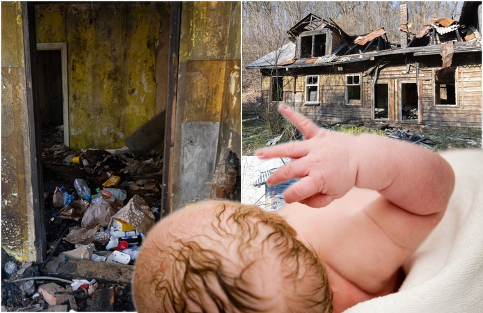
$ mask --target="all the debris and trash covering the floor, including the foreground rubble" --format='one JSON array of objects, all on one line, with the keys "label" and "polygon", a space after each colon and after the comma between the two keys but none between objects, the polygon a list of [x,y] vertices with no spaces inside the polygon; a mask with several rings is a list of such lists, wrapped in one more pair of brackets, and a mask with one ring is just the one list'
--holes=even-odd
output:
[{"label": "all the debris and trash covering the floor, including the foreground rubble", "polygon": [[163,159],[69,150],[61,133],[42,131],[47,258],[20,264],[2,250],[2,311],[135,311],[133,265],[161,216]]}]

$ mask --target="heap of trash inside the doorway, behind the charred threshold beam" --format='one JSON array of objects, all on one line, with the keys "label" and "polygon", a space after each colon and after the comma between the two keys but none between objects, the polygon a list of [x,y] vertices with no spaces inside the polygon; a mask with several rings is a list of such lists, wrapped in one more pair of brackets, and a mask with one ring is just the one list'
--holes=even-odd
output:
[{"label": "heap of trash inside the doorway, behind the charred threshold beam", "polygon": [[[77,168],[73,175],[83,174],[68,186],[55,186],[53,191],[52,184],[45,184],[45,207],[51,208],[49,221],[57,220],[57,225],[65,224],[65,220],[79,222],[63,231],[61,239],[74,248],[61,253],[74,259],[133,264],[145,234],[157,220],[155,213],[159,219],[163,159],[134,158],[127,148],[64,152],[63,148],[51,147],[43,157],[46,177],[52,177],[47,175],[49,170],[68,172],[66,168],[70,167]],[[64,169],[52,169],[58,166]],[[104,257],[97,255],[97,250],[113,252]],[[52,247],[49,253],[55,252]]]}]

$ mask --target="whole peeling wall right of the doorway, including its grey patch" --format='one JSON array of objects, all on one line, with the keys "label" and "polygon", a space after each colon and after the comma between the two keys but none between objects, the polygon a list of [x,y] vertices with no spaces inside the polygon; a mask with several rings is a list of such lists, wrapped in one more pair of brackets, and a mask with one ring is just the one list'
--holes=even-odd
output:
[{"label": "whole peeling wall right of the doorway, including its grey patch", "polygon": [[[212,198],[220,156],[240,156],[240,14],[239,2],[182,4],[173,208]],[[212,153],[187,158],[205,143]]]}]

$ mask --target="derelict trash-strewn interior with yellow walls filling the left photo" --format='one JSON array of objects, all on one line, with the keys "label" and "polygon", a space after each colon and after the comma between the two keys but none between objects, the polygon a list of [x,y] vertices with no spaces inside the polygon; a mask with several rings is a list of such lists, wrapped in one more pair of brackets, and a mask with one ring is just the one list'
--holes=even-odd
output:
[{"label": "derelict trash-strewn interior with yellow walls filling the left photo", "polygon": [[[112,214],[137,207],[143,220],[131,226],[145,232],[191,202],[239,199],[240,10],[239,2],[1,3],[2,278],[22,277],[4,271],[10,259],[37,262],[45,275],[108,282],[101,262],[83,269],[72,257],[76,273],[47,263],[74,249],[62,238],[86,221],[81,213],[97,196],[116,200]],[[92,198],[81,199],[77,179]],[[95,220],[87,228],[99,233],[106,220]],[[129,222],[120,220],[123,230]],[[72,229],[87,231],[84,222]],[[92,234],[76,243],[106,250],[109,238]],[[128,264],[113,267],[111,280],[128,285],[134,259]],[[7,303],[3,289],[10,309],[34,304]]]}]

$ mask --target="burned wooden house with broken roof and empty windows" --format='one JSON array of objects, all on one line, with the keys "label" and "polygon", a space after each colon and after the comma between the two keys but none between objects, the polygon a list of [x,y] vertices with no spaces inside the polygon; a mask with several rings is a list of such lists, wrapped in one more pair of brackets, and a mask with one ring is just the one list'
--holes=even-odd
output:
[{"label": "burned wooden house with broken roof and empty windows", "polygon": [[262,74],[262,102],[285,102],[312,120],[482,125],[481,2],[465,2],[459,21],[433,19],[400,40],[384,29],[348,35],[308,14],[287,31],[290,42],[246,65]]}]

